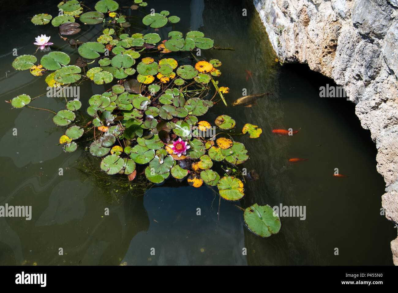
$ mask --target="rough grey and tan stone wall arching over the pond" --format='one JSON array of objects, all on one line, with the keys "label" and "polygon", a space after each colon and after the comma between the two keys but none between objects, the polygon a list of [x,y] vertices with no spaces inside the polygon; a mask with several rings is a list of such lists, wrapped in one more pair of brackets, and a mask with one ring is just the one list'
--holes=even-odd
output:
[{"label": "rough grey and tan stone wall arching over the pond", "polygon": [[[398,0],[254,0],[278,59],[345,88],[376,143],[382,206],[398,224]],[[398,265],[398,237],[391,242]]]}]

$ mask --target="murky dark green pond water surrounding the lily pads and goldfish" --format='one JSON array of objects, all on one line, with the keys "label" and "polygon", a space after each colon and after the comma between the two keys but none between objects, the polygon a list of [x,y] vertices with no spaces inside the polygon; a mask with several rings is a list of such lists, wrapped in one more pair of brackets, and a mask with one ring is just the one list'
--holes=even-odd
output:
[{"label": "murky dark green pond water surrounding the lily pads and goldfish", "polygon": [[[94,7],[95,2],[85,4]],[[130,6],[131,1],[119,4]],[[13,2],[2,4],[2,35],[10,40],[0,49],[2,101],[45,92],[45,76],[12,68],[13,48],[19,55],[34,53],[34,38],[45,33],[51,35],[54,51],[74,51],[59,38],[57,29],[33,26],[28,19],[43,12],[54,16],[55,8],[54,1],[20,1],[18,11]],[[245,123],[262,128],[256,140],[236,139],[250,155],[239,167],[256,169],[260,179],[246,181],[240,202],[221,200],[220,205],[212,189],[195,189],[173,179],[141,196],[136,189],[116,192],[114,182],[104,183],[85,172],[89,165],[99,169],[100,159],[85,151],[83,144],[74,153],[57,146],[64,129],[55,126],[52,113],[10,110],[10,104],[4,103],[0,205],[32,206],[32,216],[31,220],[0,218],[0,265],[392,265],[390,241],[396,235],[393,224],[380,215],[384,181],[376,171],[376,147],[369,131],[361,128],[354,104],[345,98],[320,98],[319,87],[333,81],[306,65],[276,63],[249,1],[149,0],[145,11],[150,8],[179,16],[173,30],[198,29],[215,45],[234,48],[202,51],[206,60],[222,61],[220,85],[230,88],[225,95],[228,107],[217,104],[203,120],[213,122],[228,114],[237,128]],[[247,16],[242,16],[244,8]],[[87,41],[100,30],[101,26],[90,26],[74,37]],[[170,30],[166,26],[158,33],[166,39]],[[245,69],[252,77],[246,79]],[[81,110],[92,94],[108,88],[82,84]],[[251,108],[232,107],[243,88],[247,94],[275,92]],[[43,96],[31,106],[58,111],[64,100]],[[14,128],[17,136],[12,135]],[[301,130],[285,137],[273,134],[275,128]],[[289,163],[293,157],[308,160]],[[333,177],[335,168],[349,177]],[[235,206],[253,203],[305,206],[305,220],[281,217],[278,234],[259,238],[245,228],[243,212]],[[104,216],[105,208],[109,216]],[[247,255],[242,255],[244,248]]]}]

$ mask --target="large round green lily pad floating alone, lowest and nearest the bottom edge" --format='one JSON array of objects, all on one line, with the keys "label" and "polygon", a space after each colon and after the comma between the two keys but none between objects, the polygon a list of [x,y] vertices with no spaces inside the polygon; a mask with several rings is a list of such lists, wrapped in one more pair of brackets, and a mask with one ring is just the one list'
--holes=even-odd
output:
[{"label": "large round green lily pad floating alone, lowest and nearest the bottom edge", "polygon": [[257,236],[269,237],[281,230],[281,219],[269,205],[254,204],[244,211],[244,219],[250,231]]}]

